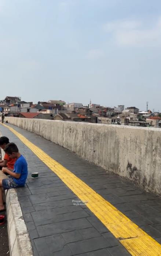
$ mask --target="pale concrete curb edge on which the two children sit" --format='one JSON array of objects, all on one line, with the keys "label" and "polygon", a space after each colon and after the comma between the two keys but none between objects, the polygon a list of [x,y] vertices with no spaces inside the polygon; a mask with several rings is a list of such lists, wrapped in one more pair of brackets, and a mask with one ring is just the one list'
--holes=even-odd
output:
[{"label": "pale concrete curb edge on which the two children sit", "polygon": [[[4,152],[1,151],[1,154],[3,157]],[[33,256],[33,250],[28,230],[23,219],[17,191],[16,189],[8,189],[5,193],[10,256]]]}]

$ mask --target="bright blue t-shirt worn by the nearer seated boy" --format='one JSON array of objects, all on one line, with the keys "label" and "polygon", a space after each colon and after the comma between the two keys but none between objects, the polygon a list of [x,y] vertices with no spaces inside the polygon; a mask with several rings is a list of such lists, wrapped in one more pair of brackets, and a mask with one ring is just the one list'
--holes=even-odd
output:
[{"label": "bright blue t-shirt worn by the nearer seated boy", "polygon": [[13,178],[14,182],[18,186],[25,186],[26,179],[27,179],[27,176],[28,176],[28,164],[26,162],[25,157],[23,157],[23,155],[21,155],[21,157],[19,157],[15,161],[13,172],[21,173],[19,179]]}]

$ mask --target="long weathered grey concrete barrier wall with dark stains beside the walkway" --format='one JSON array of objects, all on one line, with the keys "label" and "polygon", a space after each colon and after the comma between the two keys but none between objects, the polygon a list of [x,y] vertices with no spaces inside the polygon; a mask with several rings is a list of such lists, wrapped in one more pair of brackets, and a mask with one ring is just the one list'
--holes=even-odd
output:
[{"label": "long weathered grey concrete barrier wall with dark stains beside the walkway", "polygon": [[7,120],[161,195],[161,129],[11,117]]}]

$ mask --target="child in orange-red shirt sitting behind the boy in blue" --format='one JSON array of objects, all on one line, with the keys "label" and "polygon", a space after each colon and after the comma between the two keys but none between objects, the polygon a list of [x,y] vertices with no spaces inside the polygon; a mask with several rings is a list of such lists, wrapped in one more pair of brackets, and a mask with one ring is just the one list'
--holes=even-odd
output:
[{"label": "child in orange-red shirt sitting behind the boy in blue", "polygon": [[[4,150],[6,145],[10,143],[9,139],[5,136],[0,137],[0,147]],[[7,153],[4,155],[4,159],[0,160],[0,170],[2,167],[7,167],[9,170],[13,171],[14,169],[14,163],[16,161],[16,158],[10,158]]]}]

